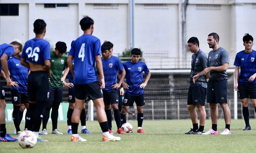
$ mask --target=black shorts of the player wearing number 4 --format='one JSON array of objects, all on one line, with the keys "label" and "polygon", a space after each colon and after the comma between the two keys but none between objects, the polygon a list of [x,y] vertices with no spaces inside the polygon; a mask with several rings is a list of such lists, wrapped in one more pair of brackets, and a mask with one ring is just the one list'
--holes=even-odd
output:
[{"label": "black shorts of the player wearing number 4", "polygon": [[103,98],[100,83],[98,81],[89,84],[75,84],[75,97],[83,100]]}]

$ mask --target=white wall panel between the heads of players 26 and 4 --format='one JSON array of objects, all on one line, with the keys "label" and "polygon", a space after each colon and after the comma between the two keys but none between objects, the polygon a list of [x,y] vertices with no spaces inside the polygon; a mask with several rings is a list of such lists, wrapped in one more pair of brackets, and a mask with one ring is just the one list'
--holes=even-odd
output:
[{"label": "white wall panel between the heads of players 26 and 4", "polygon": [[63,41],[69,50],[72,40],[78,37],[78,5],[70,4],[69,8],[44,8],[44,4],[36,4],[35,10],[35,18],[43,19],[47,24],[44,38],[53,47],[56,42]]}]

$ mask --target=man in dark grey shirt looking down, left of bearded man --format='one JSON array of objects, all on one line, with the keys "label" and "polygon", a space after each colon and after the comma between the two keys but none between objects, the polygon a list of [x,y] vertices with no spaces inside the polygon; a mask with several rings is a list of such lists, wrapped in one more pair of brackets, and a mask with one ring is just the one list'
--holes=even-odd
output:
[{"label": "man in dark grey shirt looking down, left of bearded man", "polygon": [[[204,124],[206,119],[205,112],[205,96],[207,90],[206,76],[200,76],[197,81],[193,82],[193,76],[206,68],[207,56],[199,48],[199,40],[197,37],[191,37],[187,41],[188,49],[193,53],[190,72],[190,87],[187,96],[187,109],[190,113],[193,128],[185,134],[202,134],[204,133]],[[208,76],[209,77],[209,76]],[[197,111],[199,112],[200,125],[198,128]]]}]

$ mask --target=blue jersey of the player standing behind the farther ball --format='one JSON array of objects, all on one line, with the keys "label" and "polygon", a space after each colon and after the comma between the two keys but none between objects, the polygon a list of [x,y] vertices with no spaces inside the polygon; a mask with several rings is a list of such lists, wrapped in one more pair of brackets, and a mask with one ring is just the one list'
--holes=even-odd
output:
[{"label": "blue jersey of the player standing behind the farther ball", "polygon": [[123,63],[123,67],[126,71],[126,83],[129,85],[129,89],[126,90],[126,94],[129,96],[139,96],[144,93],[144,89],[140,88],[143,82],[143,71],[145,74],[149,73],[149,69],[146,63],[139,61],[138,63],[132,63],[131,61]]}]

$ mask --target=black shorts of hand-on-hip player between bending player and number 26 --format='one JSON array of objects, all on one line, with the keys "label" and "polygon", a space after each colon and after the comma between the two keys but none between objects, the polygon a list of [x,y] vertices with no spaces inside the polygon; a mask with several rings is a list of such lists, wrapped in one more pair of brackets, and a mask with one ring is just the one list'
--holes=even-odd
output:
[{"label": "black shorts of hand-on-hip player between bending player and number 26", "polygon": [[28,103],[27,93],[19,93],[17,89],[11,89],[12,104]]}]

